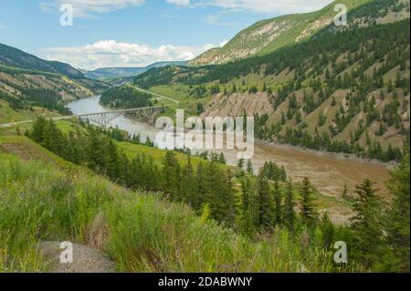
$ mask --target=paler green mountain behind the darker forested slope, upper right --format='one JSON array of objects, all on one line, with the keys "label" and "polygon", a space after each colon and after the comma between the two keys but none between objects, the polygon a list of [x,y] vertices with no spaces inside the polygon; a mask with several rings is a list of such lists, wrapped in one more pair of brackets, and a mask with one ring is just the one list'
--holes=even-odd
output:
[{"label": "paler green mountain behind the darker forested slope, upper right", "polygon": [[[259,21],[238,33],[226,46],[213,48],[195,57],[189,64],[192,66],[224,64],[244,57],[266,55],[280,47],[300,43],[315,35],[321,28],[332,24],[333,17],[337,14],[334,11],[337,4],[346,5],[349,10],[349,26],[354,26],[358,22],[365,26],[370,23],[387,23],[404,19],[407,14],[403,8],[406,6],[409,9],[409,1],[403,0],[334,1],[316,12]],[[390,13],[385,13],[385,9],[389,9]]]}]

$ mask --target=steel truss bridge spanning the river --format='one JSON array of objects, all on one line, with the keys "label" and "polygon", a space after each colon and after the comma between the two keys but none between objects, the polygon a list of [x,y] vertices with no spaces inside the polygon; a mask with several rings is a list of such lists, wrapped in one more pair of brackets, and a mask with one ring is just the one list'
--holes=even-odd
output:
[{"label": "steel truss bridge spanning the river", "polygon": [[82,121],[88,121],[96,123],[102,127],[107,127],[110,123],[124,115],[132,115],[133,117],[147,117],[152,116],[156,112],[163,112],[168,106],[154,106],[154,107],[143,107],[138,109],[121,109],[121,110],[111,110],[105,112],[79,114],[75,117]]}]

